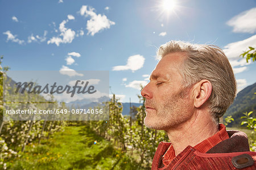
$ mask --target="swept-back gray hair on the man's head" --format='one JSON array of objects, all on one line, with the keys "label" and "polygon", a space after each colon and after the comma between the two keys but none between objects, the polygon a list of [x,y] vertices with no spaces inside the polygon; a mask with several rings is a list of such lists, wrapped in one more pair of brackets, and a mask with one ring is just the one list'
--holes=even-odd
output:
[{"label": "swept-back gray hair on the man's head", "polygon": [[208,99],[209,111],[213,120],[218,123],[219,118],[233,103],[237,92],[236,78],[225,53],[215,45],[171,41],[160,46],[157,56],[162,59],[174,52],[187,53],[179,68],[185,88],[204,79],[212,84],[212,94]]}]

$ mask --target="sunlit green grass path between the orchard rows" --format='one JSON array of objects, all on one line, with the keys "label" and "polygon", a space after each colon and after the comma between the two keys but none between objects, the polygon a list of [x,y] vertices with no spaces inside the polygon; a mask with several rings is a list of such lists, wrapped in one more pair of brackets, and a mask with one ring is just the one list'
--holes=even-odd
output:
[{"label": "sunlit green grass path between the orchard rows", "polygon": [[142,169],[85,126],[65,127],[41,144],[28,145],[20,155],[7,163],[7,169]]}]

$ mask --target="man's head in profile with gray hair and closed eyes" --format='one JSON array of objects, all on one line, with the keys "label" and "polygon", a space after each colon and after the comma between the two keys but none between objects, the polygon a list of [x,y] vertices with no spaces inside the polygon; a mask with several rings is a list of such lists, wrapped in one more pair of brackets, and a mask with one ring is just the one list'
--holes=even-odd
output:
[{"label": "man's head in profile with gray hair and closed eyes", "polygon": [[[177,125],[204,106],[217,123],[236,96],[236,79],[224,52],[213,45],[172,41],[161,45],[158,57],[151,81],[142,90],[148,108],[146,126],[160,129]],[[203,104],[198,107],[196,93],[191,92],[195,86],[208,93],[202,93]]]}]

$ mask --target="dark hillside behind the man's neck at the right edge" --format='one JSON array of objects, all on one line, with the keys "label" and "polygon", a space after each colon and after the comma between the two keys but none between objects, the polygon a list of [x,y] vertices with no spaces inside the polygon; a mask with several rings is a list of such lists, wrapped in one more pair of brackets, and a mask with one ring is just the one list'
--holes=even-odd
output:
[{"label": "dark hillside behind the man's neck at the right edge", "polygon": [[247,86],[245,89],[241,90],[238,94],[234,103],[229,107],[224,115],[224,119],[228,115],[232,115],[234,122],[230,123],[229,126],[240,126],[242,119],[242,113],[253,111],[251,116],[256,115],[256,83]]}]

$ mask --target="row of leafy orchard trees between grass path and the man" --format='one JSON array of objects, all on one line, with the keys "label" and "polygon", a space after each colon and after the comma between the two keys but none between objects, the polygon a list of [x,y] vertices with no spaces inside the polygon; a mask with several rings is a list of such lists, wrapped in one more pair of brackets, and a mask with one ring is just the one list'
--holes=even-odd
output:
[{"label": "row of leafy orchard trees between grass path and the man", "polygon": [[[158,143],[168,140],[164,131],[156,131],[144,126],[146,117],[144,98],[141,98],[142,106],[132,107],[131,113],[135,116],[122,115],[122,103],[118,99],[110,99],[106,104],[109,106],[109,121],[90,121],[88,126],[105,139],[110,140],[118,150],[130,152],[132,157],[139,160],[135,169],[150,168]],[[133,118],[134,117],[134,118]]]}]

